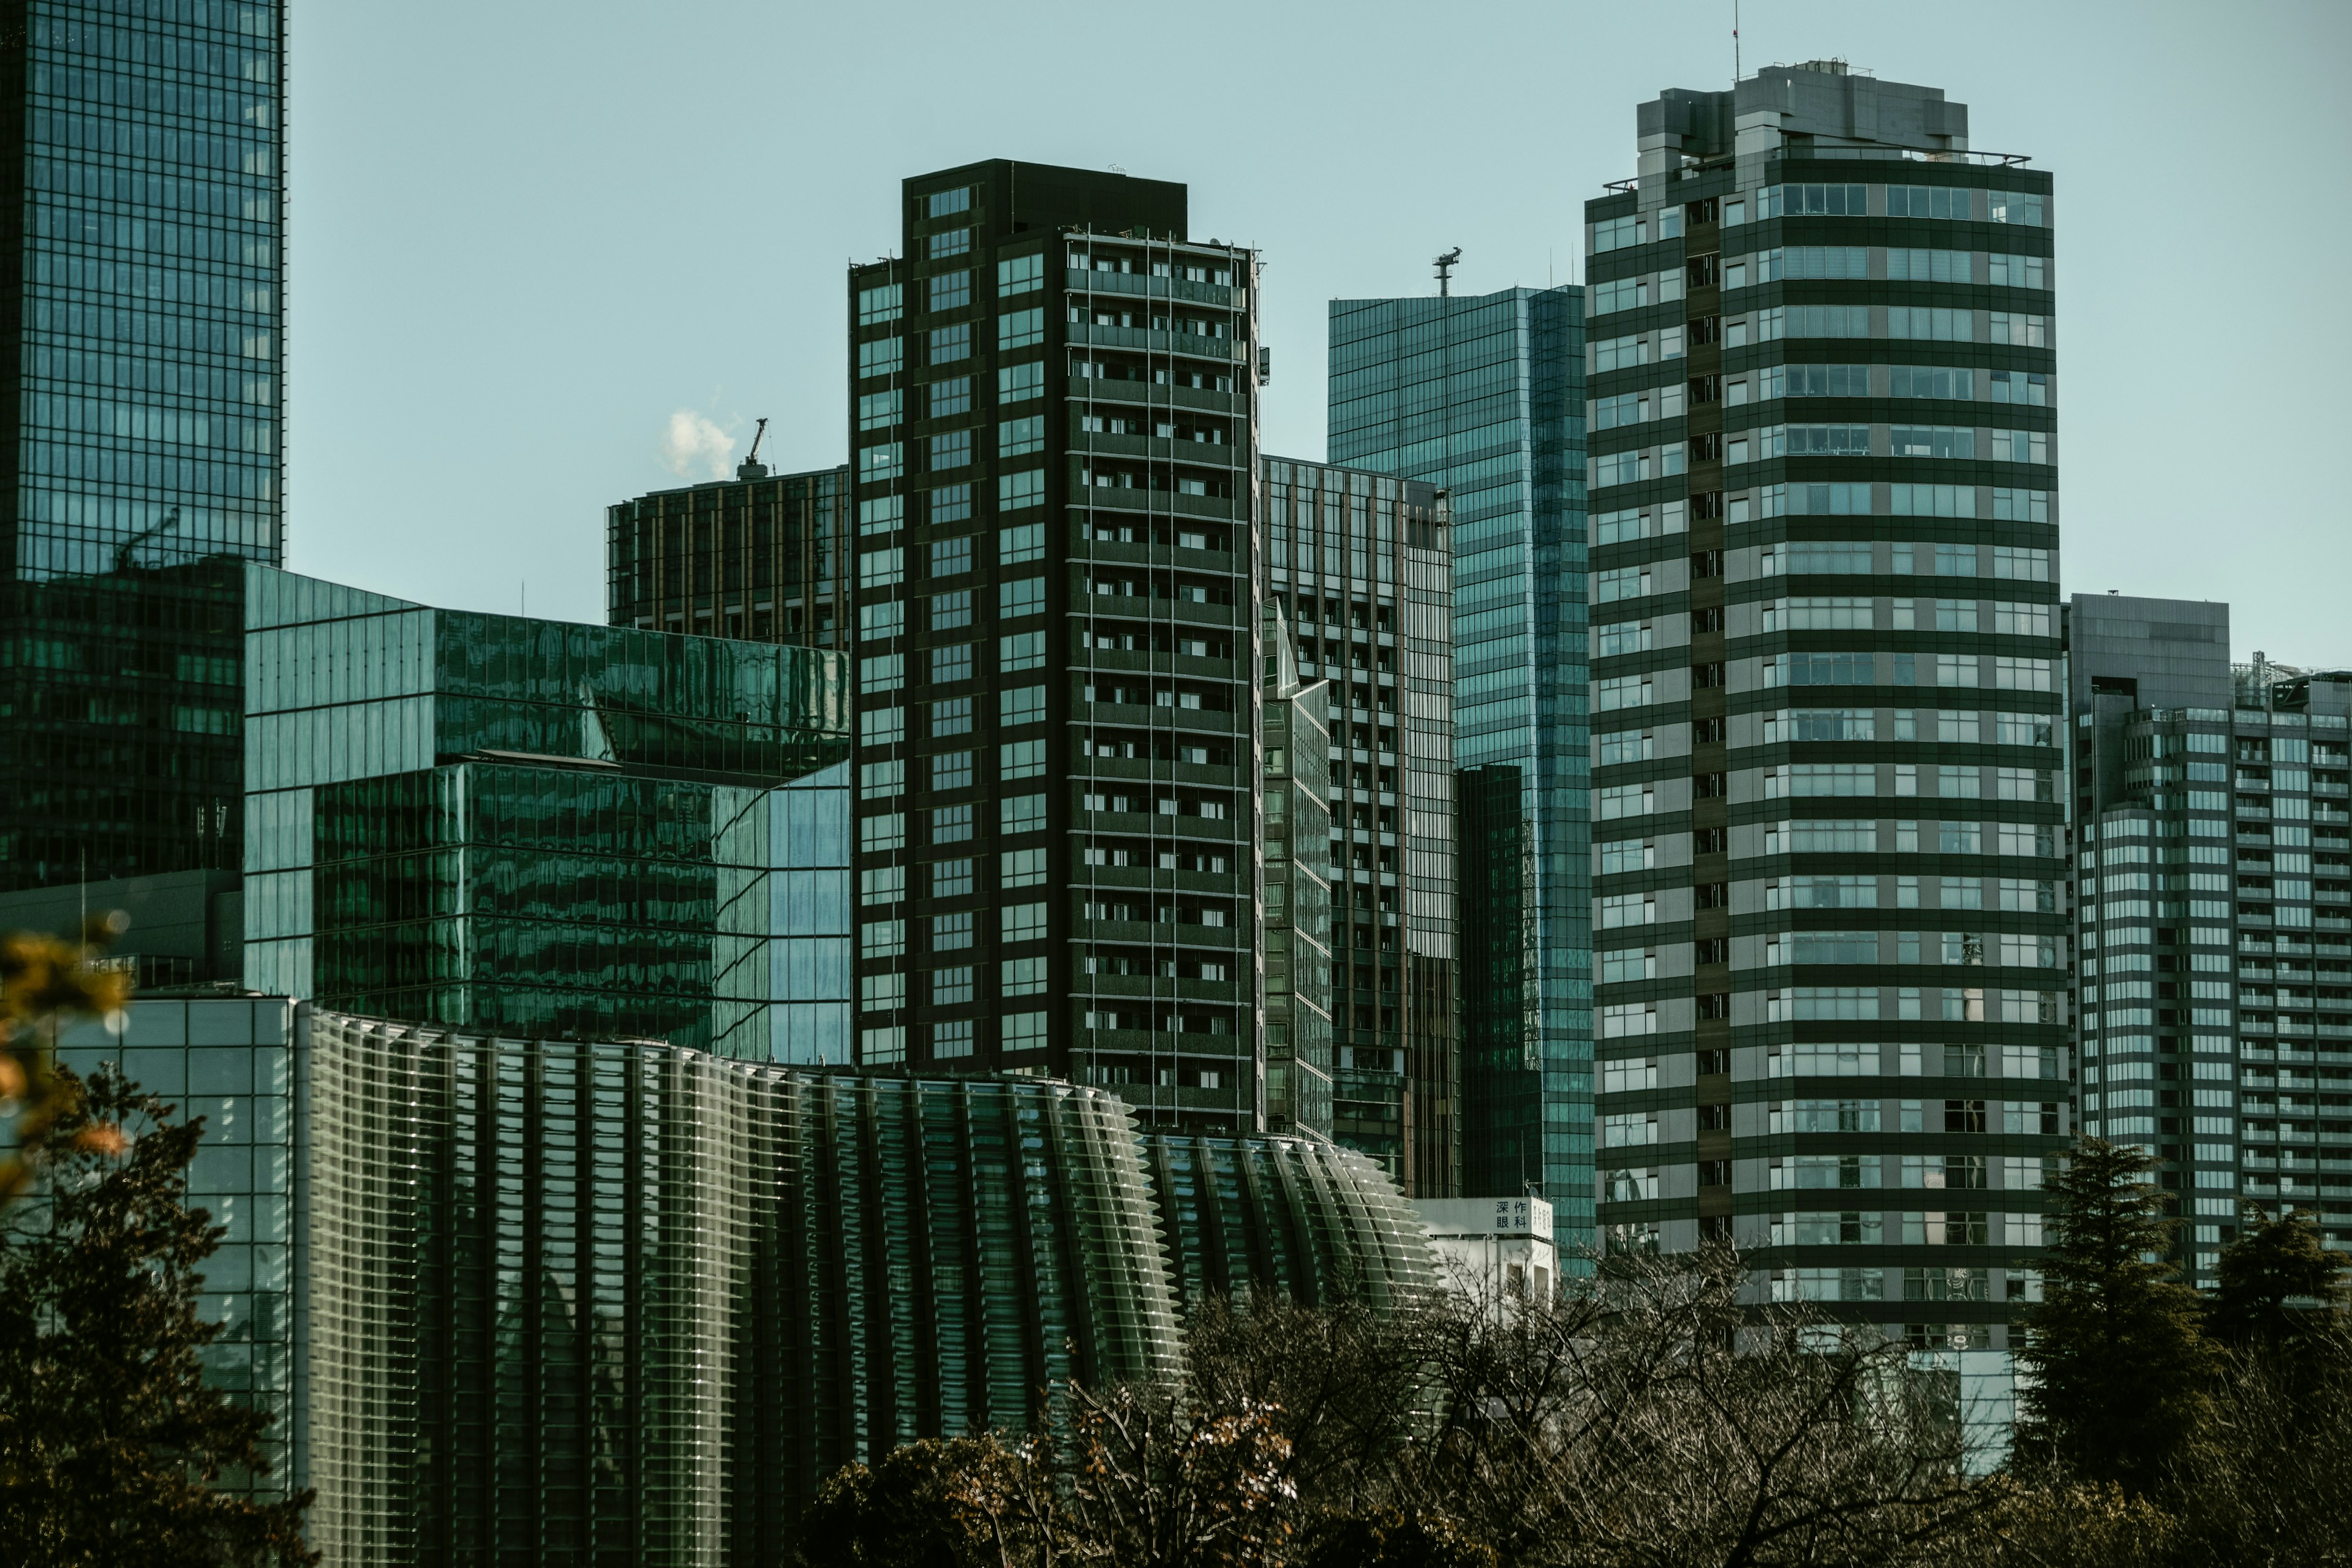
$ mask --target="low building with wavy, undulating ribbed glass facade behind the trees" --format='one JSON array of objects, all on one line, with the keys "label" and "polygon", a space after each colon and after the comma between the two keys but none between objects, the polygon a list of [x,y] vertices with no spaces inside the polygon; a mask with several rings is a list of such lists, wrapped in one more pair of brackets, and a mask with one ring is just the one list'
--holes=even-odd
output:
[{"label": "low building with wavy, undulating ribbed glass facade behind the trees", "polygon": [[[1101,1088],[816,1072],[238,997],[64,1060],[207,1117],[207,1375],[280,1415],[334,1563],[781,1561],[842,1465],[1171,1382],[1183,1312],[1435,1288],[1322,1140],[1145,1138]],[[249,1479],[238,1476],[238,1483]]]}]

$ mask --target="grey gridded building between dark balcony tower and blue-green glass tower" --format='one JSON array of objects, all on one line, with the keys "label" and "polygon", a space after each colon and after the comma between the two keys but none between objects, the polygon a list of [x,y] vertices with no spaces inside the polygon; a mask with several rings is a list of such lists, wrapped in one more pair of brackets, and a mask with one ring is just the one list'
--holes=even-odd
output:
[{"label": "grey gridded building between dark balcony tower and blue-green glass tower", "polygon": [[[1329,736],[1331,839],[1315,856],[1329,886],[1327,1126],[1406,1192],[1449,1197],[1461,1190],[1461,994],[1446,498],[1418,480],[1291,458],[1265,458],[1261,496],[1265,599],[1296,637],[1268,621],[1268,672],[1317,682],[1301,701],[1322,705]],[[1272,889],[1272,806],[1265,823]],[[1294,825],[1294,856],[1305,846]]]}]

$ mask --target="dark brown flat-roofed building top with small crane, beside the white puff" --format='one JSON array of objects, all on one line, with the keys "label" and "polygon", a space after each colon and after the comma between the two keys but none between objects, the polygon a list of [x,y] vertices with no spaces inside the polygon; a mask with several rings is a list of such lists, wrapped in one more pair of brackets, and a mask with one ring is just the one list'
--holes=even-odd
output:
[{"label": "dark brown flat-roofed building top with small crane, beside the white puff", "polygon": [[604,510],[604,618],[647,632],[849,646],[849,470],[656,489]]}]

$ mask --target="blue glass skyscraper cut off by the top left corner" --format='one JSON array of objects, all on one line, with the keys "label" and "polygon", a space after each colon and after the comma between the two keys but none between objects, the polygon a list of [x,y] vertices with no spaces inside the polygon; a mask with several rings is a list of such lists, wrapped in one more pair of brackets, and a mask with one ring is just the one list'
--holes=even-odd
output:
[{"label": "blue glass skyscraper cut off by the top left corner", "polygon": [[282,557],[285,7],[0,26],[0,886],[202,907],[240,858],[240,562]]}]

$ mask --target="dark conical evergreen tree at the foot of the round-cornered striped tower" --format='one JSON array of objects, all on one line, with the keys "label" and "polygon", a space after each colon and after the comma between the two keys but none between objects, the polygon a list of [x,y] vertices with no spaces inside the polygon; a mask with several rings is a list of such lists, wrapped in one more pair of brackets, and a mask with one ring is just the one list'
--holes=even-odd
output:
[{"label": "dark conical evergreen tree at the foot of the round-cornered striped tower", "polygon": [[2018,1455],[2145,1495],[2206,1415],[2213,1349],[2166,1262],[2173,1225],[2136,1145],[2086,1138],[2053,1182],[2044,1298],[2020,1366]]}]

